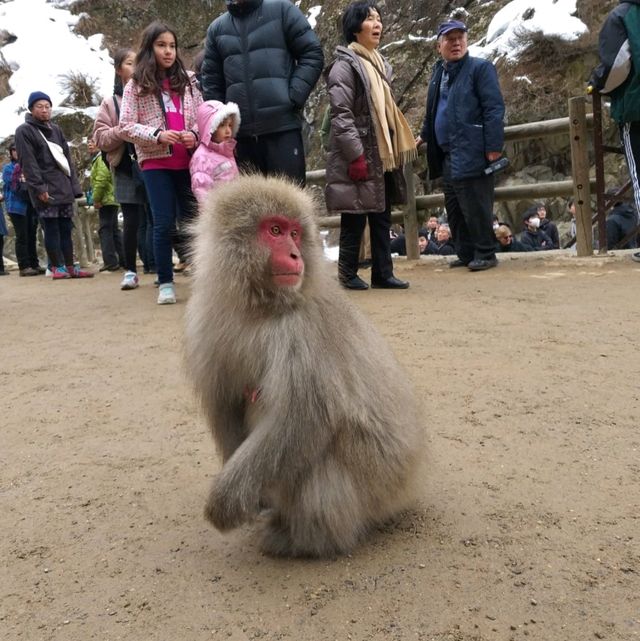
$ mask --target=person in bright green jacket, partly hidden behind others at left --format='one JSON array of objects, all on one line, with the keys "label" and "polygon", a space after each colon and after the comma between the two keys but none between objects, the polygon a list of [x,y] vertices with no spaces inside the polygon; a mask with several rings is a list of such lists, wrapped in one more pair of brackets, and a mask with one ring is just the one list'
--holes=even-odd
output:
[{"label": "person in bright green jacket, partly hidden behind others at left", "polygon": [[120,205],[113,193],[111,171],[102,159],[102,154],[93,140],[89,141],[89,152],[93,154],[93,160],[91,161],[93,206],[98,212],[100,221],[98,236],[100,238],[103,263],[100,271],[114,272],[124,266],[122,234],[118,227]]}]

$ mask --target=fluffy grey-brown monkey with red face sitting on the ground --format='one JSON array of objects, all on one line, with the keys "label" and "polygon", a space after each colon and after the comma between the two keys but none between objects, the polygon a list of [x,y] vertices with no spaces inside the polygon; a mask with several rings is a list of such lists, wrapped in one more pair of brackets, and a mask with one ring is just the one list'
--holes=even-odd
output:
[{"label": "fluffy grey-brown monkey with red face sitting on the ground", "polygon": [[409,505],[422,459],[411,386],[325,275],[316,216],[298,187],[244,176],[194,229],[186,363],[223,463],[205,515],[260,515],[275,556],[348,552]]}]

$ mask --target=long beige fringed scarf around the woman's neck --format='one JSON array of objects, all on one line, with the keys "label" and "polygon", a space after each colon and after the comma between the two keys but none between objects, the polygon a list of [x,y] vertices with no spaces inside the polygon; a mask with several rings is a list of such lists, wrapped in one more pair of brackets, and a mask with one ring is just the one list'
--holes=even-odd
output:
[{"label": "long beige fringed scarf around the woman's neck", "polygon": [[352,42],[349,45],[362,61],[369,76],[373,122],[380,160],[384,171],[402,167],[418,157],[415,137],[393,99],[391,87],[387,82],[382,56],[374,49]]}]

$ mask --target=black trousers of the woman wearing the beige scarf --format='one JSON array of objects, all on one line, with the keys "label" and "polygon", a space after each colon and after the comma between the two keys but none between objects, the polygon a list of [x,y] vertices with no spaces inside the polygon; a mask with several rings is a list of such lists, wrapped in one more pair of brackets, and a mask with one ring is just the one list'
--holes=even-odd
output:
[{"label": "black trousers of the woman wearing the beige scarf", "polygon": [[393,276],[391,260],[391,174],[385,173],[385,210],[367,214],[342,214],[340,217],[340,248],[338,277],[349,280],[358,273],[360,243],[369,221],[371,237],[371,281],[383,281]]}]

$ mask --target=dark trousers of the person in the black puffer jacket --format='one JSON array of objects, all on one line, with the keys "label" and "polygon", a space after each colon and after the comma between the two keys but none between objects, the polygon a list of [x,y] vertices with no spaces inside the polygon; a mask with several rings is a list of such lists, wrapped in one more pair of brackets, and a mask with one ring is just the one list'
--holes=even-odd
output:
[{"label": "dark trousers of the person in the black puffer jacket", "polygon": [[301,187],[306,182],[304,144],[300,129],[275,134],[238,138],[238,166],[265,176],[287,176]]}]

